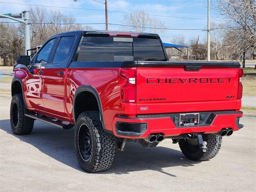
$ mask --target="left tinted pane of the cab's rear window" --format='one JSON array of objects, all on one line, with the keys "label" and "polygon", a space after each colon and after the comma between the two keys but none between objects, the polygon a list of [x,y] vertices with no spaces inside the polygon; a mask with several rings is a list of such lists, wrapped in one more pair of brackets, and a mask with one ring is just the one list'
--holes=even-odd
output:
[{"label": "left tinted pane of the cab's rear window", "polygon": [[84,37],[78,61],[114,61],[112,37]]}]

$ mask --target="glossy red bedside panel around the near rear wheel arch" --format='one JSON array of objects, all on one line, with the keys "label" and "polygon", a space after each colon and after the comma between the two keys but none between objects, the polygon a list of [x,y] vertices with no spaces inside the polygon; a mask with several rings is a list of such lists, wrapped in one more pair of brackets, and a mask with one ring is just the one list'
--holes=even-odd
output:
[{"label": "glossy red bedside panel around the near rear wheel arch", "polygon": [[117,115],[135,115],[136,104],[122,104],[121,88],[126,79],[120,77],[120,68],[68,68],[66,111],[72,116],[72,104],[76,89],[82,85],[95,88],[100,96],[103,118],[107,130],[112,130],[112,121]]}]

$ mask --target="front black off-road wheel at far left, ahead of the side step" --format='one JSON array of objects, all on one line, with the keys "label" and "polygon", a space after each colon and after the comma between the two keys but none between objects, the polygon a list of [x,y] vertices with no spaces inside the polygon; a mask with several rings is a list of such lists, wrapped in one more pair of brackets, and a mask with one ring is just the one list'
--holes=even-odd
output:
[{"label": "front black off-road wheel at far left, ahead of the side step", "polygon": [[16,135],[30,134],[34,127],[34,119],[26,117],[26,111],[22,94],[12,96],[10,107],[10,123],[12,132]]}]

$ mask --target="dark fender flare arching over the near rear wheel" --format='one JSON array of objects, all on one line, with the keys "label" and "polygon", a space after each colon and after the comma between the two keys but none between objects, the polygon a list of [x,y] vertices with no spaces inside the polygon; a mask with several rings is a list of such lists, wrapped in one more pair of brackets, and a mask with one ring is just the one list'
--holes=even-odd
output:
[{"label": "dark fender flare arching over the near rear wheel", "polygon": [[104,122],[104,116],[103,116],[103,110],[102,110],[102,104],[101,104],[101,101],[100,101],[100,95],[98,93],[98,91],[92,87],[92,86],[89,86],[89,85],[83,85],[83,86],[80,86],[77,88],[76,92],[75,92],[75,95],[74,95],[74,100],[73,100],[73,106],[72,106],[72,113],[73,113],[73,118],[74,118],[74,122],[76,124],[76,116],[75,116],[75,103],[76,103],[76,97],[81,93],[81,92],[90,92],[92,93],[97,102],[98,102],[98,106],[99,106],[99,112],[100,112],[100,120],[101,120],[101,123],[102,123],[102,128],[103,130],[106,130],[106,126],[105,126],[105,122]]}]

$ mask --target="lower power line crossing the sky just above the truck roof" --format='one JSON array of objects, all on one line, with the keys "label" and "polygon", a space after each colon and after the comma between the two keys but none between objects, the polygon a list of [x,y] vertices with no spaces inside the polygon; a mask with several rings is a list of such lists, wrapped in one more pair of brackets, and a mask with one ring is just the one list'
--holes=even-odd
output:
[{"label": "lower power line crossing the sky just above the truck roof", "polygon": [[[20,23],[20,22],[0,22],[0,23]],[[94,25],[94,24],[105,24],[105,23],[30,23],[30,24],[56,24],[56,25]],[[115,24],[115,23],[109,23],[110,25],[116,25],[116,26],[126,26],[126,27],[137,27],[137,28],[147,28],[147,29],[162,29],[162,30],[207,30],[207,28],[156,28],[156,27],[142,27],[142,26],[132,26],[132,25],[123,25],[123,24]],[[215,29],[226,29],[226,28],[236,28],[240,29],[239,27],[218,27],[218,28],[211,28],[210,30]]]}]

